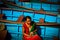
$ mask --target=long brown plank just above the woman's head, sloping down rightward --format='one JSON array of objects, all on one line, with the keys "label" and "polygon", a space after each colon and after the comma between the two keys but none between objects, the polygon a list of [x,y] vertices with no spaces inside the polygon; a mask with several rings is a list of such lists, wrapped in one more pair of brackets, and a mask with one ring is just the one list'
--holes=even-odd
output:
[{"label": "long brown plank just above the woman's head, sloping down rightward", "polygon": [[[0,9],[6,9],[6,10],[16,10],[15,8],[0,8]],[[16,10],[16,11],[21,11],[21,12],[29,12],[29,10]],[[60,14],[54,14],[54,13],[49,13],[49,12],[45,12],[45,11],[33,11],[34,13],[37,14],[46,14],[46,15],[52,15],[52,16],[57,16]]]}]

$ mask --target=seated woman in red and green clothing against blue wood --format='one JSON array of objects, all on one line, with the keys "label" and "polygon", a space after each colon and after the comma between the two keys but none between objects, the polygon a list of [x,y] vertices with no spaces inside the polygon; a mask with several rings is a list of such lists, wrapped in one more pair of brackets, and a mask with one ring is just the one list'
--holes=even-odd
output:
[{"label": "seated woman in red and green clothing against blue wood", "polygon": [[31,18],[26,16],[23,24],[23,40],[41,40],[36,31],[35,23],[31,23]]}]

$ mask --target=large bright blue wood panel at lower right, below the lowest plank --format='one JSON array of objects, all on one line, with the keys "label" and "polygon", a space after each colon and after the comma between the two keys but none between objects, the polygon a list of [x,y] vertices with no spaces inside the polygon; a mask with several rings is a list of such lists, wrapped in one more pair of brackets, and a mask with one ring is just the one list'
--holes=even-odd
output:
[{"label": "large bright blue wood panel at lower right, below the lowest plank", "polygon": [[58,37],[58,28],[46,27],[45,37],[53,38],[54,36]]}]

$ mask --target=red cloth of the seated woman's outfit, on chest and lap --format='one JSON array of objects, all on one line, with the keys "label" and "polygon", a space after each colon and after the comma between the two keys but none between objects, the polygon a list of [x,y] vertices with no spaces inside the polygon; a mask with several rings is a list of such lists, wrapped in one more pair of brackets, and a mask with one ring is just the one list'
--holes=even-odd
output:
[{"label": "red cloth of the seated woman's outfit, on chest and lap", "polygon": [[[29,28],[27,27],[27,25],[24,23],[23,24],[23,27],[25,29],[25,33],[26,34],[29,34]],[[23,40],[42,40],[38,35],[34,35],[34,36],[31,36],[31,37],[28,37],[26,35],[23,36]]]}]

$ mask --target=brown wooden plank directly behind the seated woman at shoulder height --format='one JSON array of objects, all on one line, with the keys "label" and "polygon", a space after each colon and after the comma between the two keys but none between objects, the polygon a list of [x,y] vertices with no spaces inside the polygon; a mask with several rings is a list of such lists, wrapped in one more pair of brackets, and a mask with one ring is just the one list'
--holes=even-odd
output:
[{"label": "brown wooden plank directly behind the seated woman at shoulder height", "polygon": [[[5,22],[5,23],[11,23],[11,24],[23,24],[24,22],[14,22],[14,21],[9,21],[9,20],[0,20],[0,22]],[[42,26],[60,26],[58,23],[36,23],[36,25],[42,25]]]}]

